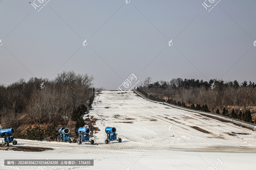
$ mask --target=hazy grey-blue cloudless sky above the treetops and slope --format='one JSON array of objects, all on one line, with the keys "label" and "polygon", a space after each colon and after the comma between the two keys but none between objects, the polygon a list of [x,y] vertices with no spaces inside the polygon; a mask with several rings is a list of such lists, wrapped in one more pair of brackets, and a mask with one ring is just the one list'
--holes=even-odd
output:
[{"label": "hazy grey-blue cloudless sky above the treetops and slope", "polygon": [[109,90],[132,73],[256,82],[255,0],[221,0],[210,12],[217,1],[50,0],[37,12],[39,1],[0,0],[4,84],[63,70],[94,75],[95,87]]}]

